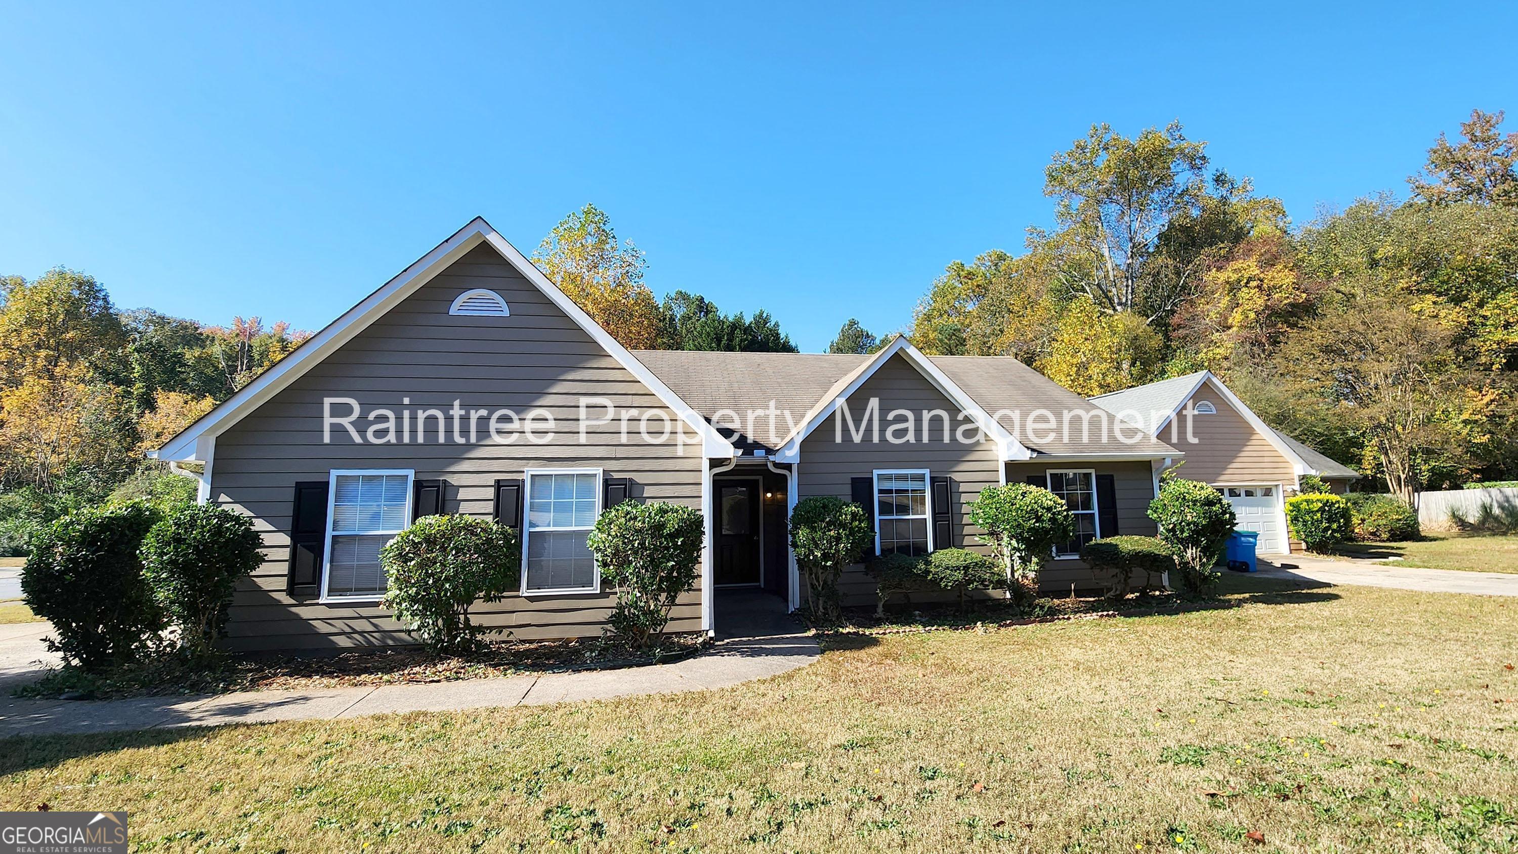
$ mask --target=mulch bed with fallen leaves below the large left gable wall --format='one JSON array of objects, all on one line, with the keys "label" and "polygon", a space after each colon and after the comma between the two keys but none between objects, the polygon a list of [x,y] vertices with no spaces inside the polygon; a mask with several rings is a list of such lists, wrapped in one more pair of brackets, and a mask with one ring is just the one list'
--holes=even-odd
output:
[{"label": "mulch bed with fallen leaves below the large left gable wall", "polygon": [[469,655],[439,657],[420,648],[354,649],[323,655],[226,655],[194,667],[159,655],[132,667],[90,675],[53,670],[12,693],[32,698],[121,699],[243,690],[316,690],[389,684],[448,683],[522,673],[609,670],[668,664],[709,645],[701,634],[672,634],[657,655],[635,652],[601,639],[499,640]]}]

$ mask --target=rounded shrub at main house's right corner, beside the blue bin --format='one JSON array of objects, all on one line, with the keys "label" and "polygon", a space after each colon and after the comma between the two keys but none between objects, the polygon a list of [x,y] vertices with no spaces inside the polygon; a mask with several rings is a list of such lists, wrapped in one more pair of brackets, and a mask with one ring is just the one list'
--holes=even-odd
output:
[{"label": "rounded shrub at main house's right corner, beside the blue bin", "polygon": [[1149,519],[1175,558],[1183,592],[1189,596],[1210,592],[1220,578],[1213,566],[1237,522],[1228,499],[1201,481],[1173,478],[1160,484],[1158,498],[1149,502]]}]

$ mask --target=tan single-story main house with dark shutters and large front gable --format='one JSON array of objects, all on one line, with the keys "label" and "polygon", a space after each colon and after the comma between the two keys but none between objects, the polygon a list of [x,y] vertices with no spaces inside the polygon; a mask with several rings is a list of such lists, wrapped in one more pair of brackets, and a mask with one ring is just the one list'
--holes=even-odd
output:
[{"label": "tan single-story main house with dark shutters and large front gable", "polygon": [[[1084,542],[1152,534],[1173,446],[1013,358],[630,352],[481,218],[168,440],[202,502],[254,517],[264,563],[238,582],[234,649],[405,643],[380,599],[381,546],[419,516],[493,517],[522,537],[516,596],[477,622],[515,637],[600,634],[615,592],[586,546],[601,510],[703,510],[700,586],[672,631],[715,631],[729,589],[802,604],[795,502],[861,502],[876,551],[984,549],[965,508],[988,484],[1066,498],[1075,538],[1049,590],[1101,586]],[[846,602],[873,598],[853,567]]]}]

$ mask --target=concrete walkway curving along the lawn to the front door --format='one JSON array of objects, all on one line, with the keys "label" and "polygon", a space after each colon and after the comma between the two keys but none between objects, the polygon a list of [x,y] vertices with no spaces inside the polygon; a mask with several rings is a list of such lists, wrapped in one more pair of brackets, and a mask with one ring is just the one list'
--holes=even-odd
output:
[{"label": "concrete walkway curving along the lawn to the front door", "polygon": [[[774,601],[779,604],[779,599]],[[112,701],[0,699],[0,737],[105,733],[162,727],[267,724],[358,717],[392,711],[446,711],[498,705],[543,705],[577,699],[721,689],[811,664],[817,642],[757,595],[718,607],[716,645],[701,655],[647,667],[540,673],[499,680],[260,690]]]}]

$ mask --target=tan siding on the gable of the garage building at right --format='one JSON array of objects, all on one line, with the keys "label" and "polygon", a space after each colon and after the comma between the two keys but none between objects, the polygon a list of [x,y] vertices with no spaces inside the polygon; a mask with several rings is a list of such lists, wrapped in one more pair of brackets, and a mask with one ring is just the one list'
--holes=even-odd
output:
[{"label": "tan siding on the gable of the garage building at right", "polygon": [[[1198,400],[1211,400],[1217,413],[1192,416],[1189,437],[1186,413]],[[1186,454],[1186,463],[1176,470],[1183,478],[1208,484],[1296,485],[1296,469],[1286,457],[1208,385],[1181,407],[1181,414],[1160,431],[1160,438]]]}]

